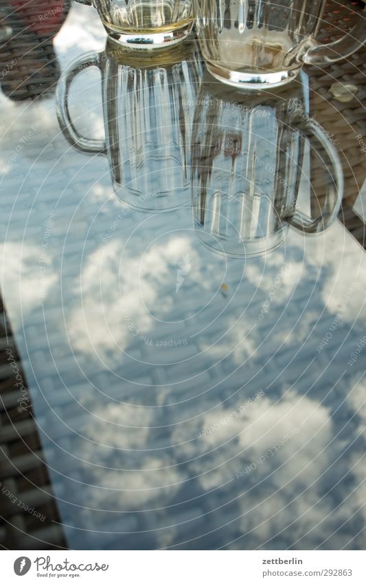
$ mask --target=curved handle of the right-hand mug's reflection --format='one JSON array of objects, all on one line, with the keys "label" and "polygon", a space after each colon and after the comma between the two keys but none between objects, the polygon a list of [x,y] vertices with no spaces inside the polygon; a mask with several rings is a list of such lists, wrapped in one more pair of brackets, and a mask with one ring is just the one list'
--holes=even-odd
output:
[{"label": "curved handle of the right-hand mug's reflection", "polygon": [[284,217],[286,222],[297,230],[305,233],[319,233],[330,227],[336,219],[341,208],[343,199],[343,171],[339,155],[330,142],[330,139],[325,134],[325,130],[319,126],[316,120],[309,118],[305,123],[306,131],[314,136],[323,147],[325,154],[328,156],[330,168],[332,169],[332,177],[334,185],[329,189],[325,197],[325,203],[321,213],[313,219],[305,213],[295,209],[288,217]]}]

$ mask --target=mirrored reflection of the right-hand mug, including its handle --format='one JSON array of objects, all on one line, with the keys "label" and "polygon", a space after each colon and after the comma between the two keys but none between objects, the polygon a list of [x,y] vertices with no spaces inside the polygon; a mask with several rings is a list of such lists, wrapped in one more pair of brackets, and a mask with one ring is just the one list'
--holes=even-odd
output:
[{"label": "mirrored reflection of the right-hand mug, including its handle", "polygon": [[[192,204],[201,241],[232,257],[254,257],[277,248],[288,226],[308,234],[330,226],[343,194],[341,162],[307,116],[299,84],[277,96],[262,92],[249,100],[208,76],[205,80],[192,136]],[[297,204],[308,179],[303,173],[307,141],[323,166],[326,185],[317,217],[301,213]],[[316,195],[310,198],[314,208]]]}]

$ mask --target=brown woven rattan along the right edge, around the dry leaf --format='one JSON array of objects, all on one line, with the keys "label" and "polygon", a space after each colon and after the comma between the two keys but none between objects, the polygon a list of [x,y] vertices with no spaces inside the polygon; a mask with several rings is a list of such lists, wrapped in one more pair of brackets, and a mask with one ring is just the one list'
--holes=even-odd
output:
[{"label": "brown woven rattan along the right edge, around the dry leaf", "polygon": [[[328,43],[339,39],[352,28],[358,18],[366,19],[365,4],[361,1],[326,5],[324,25],[319,30],[319,41]],[[325,24],[326,23],[326,24]],[[352,212],[352,206],[366,179],[366,158],[358,136],[366,136],[366,47],[326,67],[307,67],[310,76],[312,115],[334,136],[341,155],[345,175],[345,199],[339,215],[343,224],[365,247],[365,226]],[[333,83],[355,85],[357,93],[347,103],[336,100],[330,91]],[[316,177],[312,177],[316,182]],[[320,181],[320,178],[319,178]]]}]

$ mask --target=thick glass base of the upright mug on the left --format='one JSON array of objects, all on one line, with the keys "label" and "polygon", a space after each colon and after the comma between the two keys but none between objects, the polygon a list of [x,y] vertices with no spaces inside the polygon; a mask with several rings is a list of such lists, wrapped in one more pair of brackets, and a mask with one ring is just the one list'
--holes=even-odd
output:
[{"label": "thick glass base of the upright mug on the left", "polygon": [[171,47],[187,39],[187,36],[192,32],[193,23],[193,19],[188,19],[181,26],[175,25],[175,28],[172,28],[172,30],[148,33],[139,31],[125,32],[112,28],[107,23],[103,24],[108,37],[118,45],[126,49],[154,50]]}]

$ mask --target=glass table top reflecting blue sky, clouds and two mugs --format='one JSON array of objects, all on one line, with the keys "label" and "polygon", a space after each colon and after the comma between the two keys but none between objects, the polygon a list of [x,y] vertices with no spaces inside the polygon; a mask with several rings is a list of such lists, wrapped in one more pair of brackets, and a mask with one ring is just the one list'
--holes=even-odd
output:
[{"label": "glass table top reflecting blue sky, clouds and two mugs", "polygon": [[131,61],[83,6],[54,51],[56,94],[0,96],[1,288],[67,545],[363,549],[358,120],[319,127],[312,69]]}]

